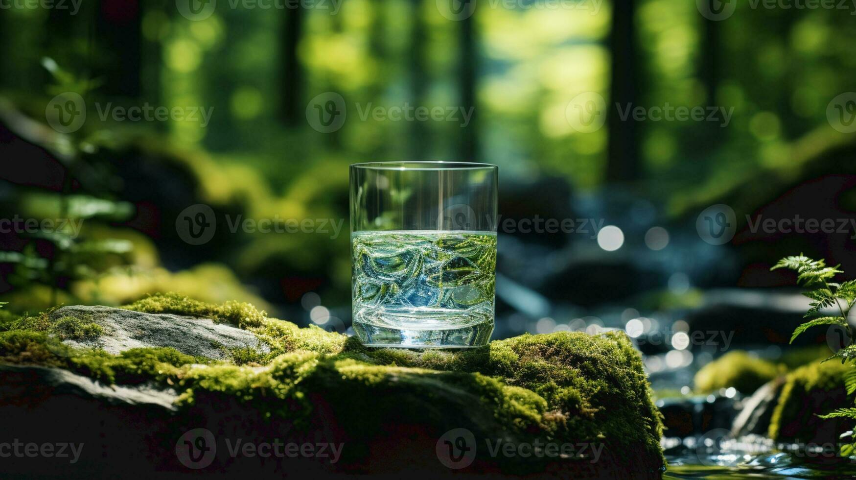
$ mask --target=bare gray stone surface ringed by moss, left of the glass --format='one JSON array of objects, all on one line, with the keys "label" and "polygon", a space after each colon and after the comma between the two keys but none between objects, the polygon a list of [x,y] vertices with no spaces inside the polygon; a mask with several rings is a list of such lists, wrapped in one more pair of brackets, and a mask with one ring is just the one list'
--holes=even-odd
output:
[{"label": "bare gray stone surface ringed by moss, left of the glass", "polygon": [[215,359],[228,357],[229,349],[235,348],[270,351],[253,333],[207,318],[77,305],[54,310],[51,321],[64,316],[98,323],[104,334],[94,340],[64,339],[63,343],[77,348],[101,348],[114,355],[132,348],[157,346]]}]

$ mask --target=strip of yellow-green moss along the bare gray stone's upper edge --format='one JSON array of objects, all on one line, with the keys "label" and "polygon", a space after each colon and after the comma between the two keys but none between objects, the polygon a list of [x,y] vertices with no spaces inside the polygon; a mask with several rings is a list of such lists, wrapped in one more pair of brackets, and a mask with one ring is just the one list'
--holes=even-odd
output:
[{"label": "strip of yellow-green moss along the bare gray stone's upper edge", "polygon": [[256,309],[249,303],[229,301],[215,305],[175,292],[152,295],[122,308],[150,314],[200,316],[241,328],[260,327],[267,317],[264,310]]}]

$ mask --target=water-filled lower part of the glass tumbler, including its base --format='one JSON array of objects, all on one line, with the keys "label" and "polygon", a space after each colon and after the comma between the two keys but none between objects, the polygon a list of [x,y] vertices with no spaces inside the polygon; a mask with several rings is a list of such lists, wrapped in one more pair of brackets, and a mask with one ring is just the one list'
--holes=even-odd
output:
[{"label": "water-filled lower part of the glass tumbler, including its base", "polygon": [[496,233],[359,231],[354,332],[368,345],[482,345],[493,330]]}]

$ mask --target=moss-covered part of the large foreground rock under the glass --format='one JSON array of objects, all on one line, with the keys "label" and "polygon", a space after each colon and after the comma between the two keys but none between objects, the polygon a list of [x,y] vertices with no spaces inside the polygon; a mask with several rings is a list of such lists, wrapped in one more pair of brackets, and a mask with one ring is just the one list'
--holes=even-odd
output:
[{"label": "moss-covered part of the large foreground rock under the glass", "polygon": [[[423,473],[449,472],[437,462],[435,444],[453,429],[467,429],[477,441],[471,472],[659,477],[664,465],[661,417],[639,354],[623,333],[527,334],[465,351],[378,350],[318,327],[268,318],[246,303],[211,305],[164,295],[127,308],[227,322],[253,333],[269,351],[217,360],[162,345],[118,355],[74,348],[51,331],[71,309],[0,332],[0,362],[175,390],[181,418],[204,418],[217,429],[235,429],[237,422],[251,432],[264,430],[262,423],[285,425],[294,435],[326,432],[348,446],[338,472],[393,472],[395,465],[383,464],[386,454],[406,458]],[[146,329],[146,317],[139,325]],[[221,411],[240,413],[219,417]],[[597,463],[490,454],[485,443],[500,439],[586,443],[603,451]]]}]

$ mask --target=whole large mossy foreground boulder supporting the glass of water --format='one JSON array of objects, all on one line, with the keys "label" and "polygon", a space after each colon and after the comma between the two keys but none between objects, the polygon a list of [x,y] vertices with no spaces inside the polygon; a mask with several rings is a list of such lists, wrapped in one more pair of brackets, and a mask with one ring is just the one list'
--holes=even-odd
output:
[{"label": "whole large mossy foreground boulder supporting the glass of water", "polygon": [[[105,439],[125,435],[124,442],[146,459],[134,461],[140,471],[186,472],[175,442],[194,429],[207,429],[226,441],[242,438],[258,444],[287,438],[343,445],[341,459],[331,464],[317,458],[244,459],[231,456],[227,446],[218,443],[217,456],[205,472],[228,475],[300,471],[659,477],[663,469],[661,417],[651,402],[639,354],[623,333],[523,335],[466,351],[378,350],[318,327],[268,318],[246,303],[211,305],[166,295],[128,305],[134,314],[93,308],[106,315],[93,316],[86,315],[87,309],[67,307],[0,325],[6,330],[0,332],[0,363],[7,365],[0,369],[0,378],[12,375],[9,369],[15,369],[15,378],[55,378],[45,371],[58,369],[75,375],[79,384],[168,395],[169,408],[149,411],[142,424],[123,424],[124,417],[136,418],[139,405],[116,406],[111,399],[108,412],[101,397],[89,394],[84,408],[78,405],[79,394],[73,396],[74,405],[95,416],[84,421],[62,417],[67,405],[57,403],[52,393],[56,386],[45,385],[51,382],[24,382],[38,392],[15,394],[19,399],[24,395],[28,410],[39,415],[29,420],[61,417],[71,431],[80,431],[78,423],[98,422],[106,415],[102,424],[115,424],[116,431],[101,431],[90,441],[114,451],[119,447]],[[56,321],[77,318],[103,329],[97,339],[87,341],[110,345],[116,318],[134,319],[145,332],[161,325],[163,315],[219,325],[231,335],[252,333],[255,343],[226,348],[228,355],[217,357],[140,333],[136,338],[146,338],[146,346],[110,353],[97,343],[62,339],[51,329]],[[130,329],[122,325],[124,331]],[[187,332],[199,331],[184,325]],[[0,400],[0,411],[23,418],[13,414],[12,403]],[[472,441],[453,452],[452,446],[461,447],[460,432],[466,432],[461,438]],[[500,445],[514,448],[497,449]],[[443,461],[448,462],[450,454],[456,459],[457,453],[471,464],[449,470]],[[115,456],[129,458],[122,452]],[[108,465],[114,465],[98,455],[88,460],[92,463],[87,468],[97,473],[110,473]]]}]

